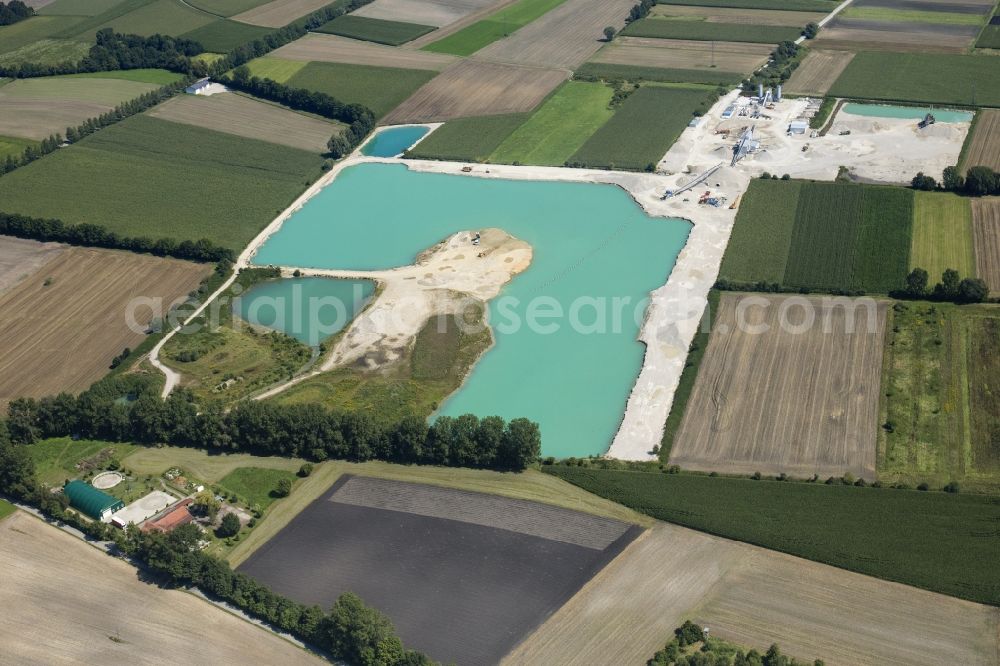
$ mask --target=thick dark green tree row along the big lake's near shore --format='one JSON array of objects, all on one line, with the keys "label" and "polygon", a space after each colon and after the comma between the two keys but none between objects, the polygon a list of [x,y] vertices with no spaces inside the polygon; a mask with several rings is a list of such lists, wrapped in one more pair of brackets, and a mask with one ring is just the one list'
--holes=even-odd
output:
[{"label": "thick dark green tree row along the big lake's near shore", "polygon": [[[524,418],[508,422],[499,416],[466,414],[442,416],[428,425],[423,417],[406,416],[387,424],[365,411],[256,400],[240,402],[229,411],[201,409],[185,389],[162,400],[151,383],[135,382],[134,376],[122,375],[98,382],[79,396],[12,400],[7,411],[11,439],[32,444],[72,435],[314,461],[384,460],[504,471],[524,470],[541,452],[538,424]],[[123,396],[132,399],[123,401]]]}]

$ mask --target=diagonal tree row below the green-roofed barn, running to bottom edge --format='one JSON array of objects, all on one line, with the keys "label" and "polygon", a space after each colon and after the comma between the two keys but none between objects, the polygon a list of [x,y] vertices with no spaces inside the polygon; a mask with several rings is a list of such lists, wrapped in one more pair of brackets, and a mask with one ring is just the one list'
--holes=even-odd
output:
[{"label": "diagonal tree row below the green-roofed barn, running to bottom edge", "polygon": [[202,552],[195,525],[169,534],[122,532],[67,511],[64,494],[38,482],[28,447],[11,441],[0,421],[0,493],[31,504],[50,519],[80,529],[92,539],[114,541],[118,550],[143,563],[174,586],[194,585],[246,613],[287,631],[335,658],[360,666],[420,666],[433,662],[406,650],[389,619],[352,593],[342,594],[329,613],[272,592],[253,578],[236,573],[225,560]]}]

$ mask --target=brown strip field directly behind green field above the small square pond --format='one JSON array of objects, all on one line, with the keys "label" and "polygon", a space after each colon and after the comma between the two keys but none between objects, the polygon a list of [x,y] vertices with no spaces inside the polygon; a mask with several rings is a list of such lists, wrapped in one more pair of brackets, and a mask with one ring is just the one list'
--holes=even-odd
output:
[{"label": "brown strip field directly behind green field above the small square pond", "polygon": [[272,51],[268,54],[268,59],[271,58],[436,71],[440,71],[458,60],[458,58],[444,53],[397,49],[316,32],[311,32],[302,39],[297,39]]}]

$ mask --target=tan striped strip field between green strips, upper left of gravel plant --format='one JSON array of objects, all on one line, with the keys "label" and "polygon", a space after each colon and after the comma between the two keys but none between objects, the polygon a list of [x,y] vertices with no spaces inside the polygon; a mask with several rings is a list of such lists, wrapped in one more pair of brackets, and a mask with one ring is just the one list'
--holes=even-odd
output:
[{"label": "tan striped strip field between green strips, upper left of gravel plant", "polygon": [[763,65],[771,50],[768,44],[745,42],[619,37],[602,48],[591,62],[747,73]]}]

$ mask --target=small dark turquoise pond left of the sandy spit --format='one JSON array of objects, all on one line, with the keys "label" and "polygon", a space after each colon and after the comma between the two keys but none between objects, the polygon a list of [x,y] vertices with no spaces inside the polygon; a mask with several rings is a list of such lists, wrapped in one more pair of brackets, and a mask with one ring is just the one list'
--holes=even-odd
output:
[{"label": "small dark turquoise pond left of the sandy spit", "polygon": [[254,326],[273,328],[316,347],[343,330],[374,291],[370,280],[271,280],[240,296],[233,309]]}]

